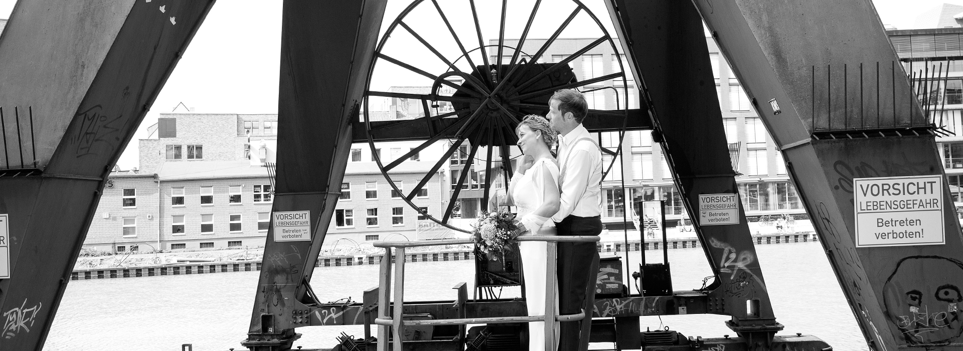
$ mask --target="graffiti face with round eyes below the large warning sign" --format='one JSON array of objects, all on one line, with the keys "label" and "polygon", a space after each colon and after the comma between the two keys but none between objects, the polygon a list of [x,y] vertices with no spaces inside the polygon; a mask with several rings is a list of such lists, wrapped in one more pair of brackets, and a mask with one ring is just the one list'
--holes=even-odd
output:
[{"label": "graffiti face with round eyes below the large warning sign", "polygon": [[955,282],[963,282],[963,262],[958,260],[909,256],[898,261],[883,285],[883,302],[887,316],[907,344],[945,345],[960,338],[963,321],[959,305],[963,293],[952,284]]}]

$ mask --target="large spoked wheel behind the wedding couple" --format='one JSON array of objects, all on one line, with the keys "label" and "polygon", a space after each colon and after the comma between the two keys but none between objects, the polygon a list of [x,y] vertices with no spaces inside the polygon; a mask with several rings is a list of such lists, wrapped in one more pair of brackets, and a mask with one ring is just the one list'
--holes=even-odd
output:
[{"label": "large spoked wheel behind the wedding couple", "polygon": [[[572,70],[570,63],[599,45],[620,51],[581,1],[508,5],[507,0],[414,1],[385,28],[365,87],[362,122],[388,185],[422,216],[456,231],[465,232],[449,221],[466,193],[471,191],[484,207],[496,192],[504,192],[510,161],[521,154],[511,150],[517,141],[514,128],[527,114],[546,115],[556,90],[617,87],[616,99],[622,101],[616,108],[596,110],[590,103],[589,118],[628,115],[627,67],[621,56],[606,64],[611,64],[608,74],[601,68],[589,75]],[[586,37],[595,39],[566,55],[546,54],[559,38]],[[403,154],[377,152],[377,141],[402,140],[417,140],[417,146]],[[436,143],[444,147],[429,148]],[[426,162],[433,165],[414,187],[396,184],[406,164]],[[447,173],[451,188],[442,189],[447,207],[431,215],[415,201],[446,165],[453,170]]]}]

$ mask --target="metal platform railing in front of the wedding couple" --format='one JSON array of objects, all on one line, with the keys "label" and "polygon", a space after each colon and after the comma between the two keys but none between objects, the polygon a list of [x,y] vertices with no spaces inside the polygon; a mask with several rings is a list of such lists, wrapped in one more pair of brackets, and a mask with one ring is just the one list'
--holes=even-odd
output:
[{"label": "metal platform railing in front of the wedding couple", "polygon": [[[546,262],[554,263],[557,256],[557,247],[559,242],[598,242],[599,237],[597,236],[571,236],[571,237],[554,237],[554,236],[523,236],[515,238],[518,241],[546,241],[547,243],[547,254]],[[517,322],[545,322],[545,321],[576,321],[582,320],[586,317],[586,311],[582,310],[581,313],[577,314],[556,314],[555,312],[555,285],[558,277],[556,277],[556,264],[545,264],[546,265],[546,276],[549,279],[545,280],[545,314],[542,315],[526,315],[526,316],[507,316],[507,317],[484,317],[484,318],[451,318],[451,319],[429,319],[429,320],[404,320],[404,250],[408,247],[417,246],[437,246],[437,245],[456,245],[456,244],[470,244],[473,243],[471,239],[443,239],[443,240],[415,240],[415,241],[375,241],[373,244],[375,247],[384,248],[384,256],[381,258],[381,265],[379,269],[378,278],[378,296],[377,296],[377,318],[375,318],[375,324],[378,325],[377,328],[377,350],[378,351],[388,351],[388,338],[393,337],[394,351],[403,350],[403,327],[405,326],[418,326],[418,325],[464,325],[464,324],[486,324],[486,323],[517,323]],[[389,306],[391,306],[391,296],[389,290],[391,289],[391,248],[395,248],[395,257],[398,258],[398,267],[395,268],[395,287],[394,287],[394,300],[395,304],[393,307],[393,313],[389,314]],[[392,317],[394,315],[395,317]],[[392,327],[392,335],[389,336],[389,328]],[[545,323],[545,350],[552,351],[555,347],[555,323]]]}]

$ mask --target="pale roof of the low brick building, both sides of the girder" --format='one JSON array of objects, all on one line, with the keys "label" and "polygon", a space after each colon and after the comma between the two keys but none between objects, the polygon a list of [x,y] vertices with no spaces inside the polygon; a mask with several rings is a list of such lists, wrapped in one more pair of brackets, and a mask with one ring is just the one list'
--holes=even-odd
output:
[{"label": "pale roof of the low brick building, both sides of the girder", "polygon": [[[391,170],[391,174],[428,173],[432,163],[406,162]],[[267,178],[268,168],[250,165],[247,161],[166,162],[157,170],[161,181],[218,178]],[[377,163],[348,163],[345,174],[381,174]],[[152,176],[152,174],[147,174]]]}]

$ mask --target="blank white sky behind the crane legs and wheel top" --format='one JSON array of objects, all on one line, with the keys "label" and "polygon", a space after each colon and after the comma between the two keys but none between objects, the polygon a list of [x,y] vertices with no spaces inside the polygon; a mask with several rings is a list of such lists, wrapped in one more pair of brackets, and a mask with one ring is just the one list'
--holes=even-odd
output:
[{"label": "blank white sky behind the crane legs and wheel top", "polygon": [[[478,12],[481,18],[497,16],[500,11],[501,2],[492,0],[476,2],[479,4]],[[606,23],[608,16],[601,0],[584,2],[593,13],[604,16],[599,18],[602,27],[611,29],[611,23]],[[385,13],[386,21],[396,18],[409,3],[409,0],[389,0]],[[470,36],[474,34],[474,26],[470,21],[470,9],[459,5],[467,1],[439,1],[439,3],[445,13],[451,13],[452,18],[449,19],[459,37],[477,38]],[[524,10],[531,9],[534,2],[512,0],[508,3],[511,14],[507,20],[506,38],[518,38],[518,33],[521,32],[527,19],[525,16],[529,13]],[[567,1],[559,1],[559,3],[562,5],[553,6],[550,11],[540,12],[535,17],[530,38],[549,37],[560,21],[571,12],[571,6]],[[943,3],[963,5],[963,0],[873,1],[882,22],[898,29],[914,29],[913,24],[919,14]],[[0,0],[0,18],[9,18],[14,4],[14,0]],[[543,5],[544,8],[546,7]],[[515,9],[520,11],[512,11]],[[433,10],[430,2],[426,1],[405,17],[405,23],[427,41],[437,43],[435,46],[439,47],[439,51],[448,56],[452,51],[445,50],[457,50],[457,46],[451,37],[447,36],[443,22]],[[464,20],[466,18],[469,20]],[[382,34],[386,27],[386,25],[382,26]],[[482,37],[497,38],[497,27],[497,23],[487,25],[483,23]],[[184,106],[194,109],[195,113],[277,113],[280,28],[281,0],[218,1],[170,75],[150,112],[144,117],[134,139],[121,156],[118,162],[120,168],[130,169],[138,166],[137,139],[148,137],[147,128],[157,122],[159,113],[172,112],[179,104],[183,103]],[[439,28],[441,30],[438,30]],[[560,38],[598,38],[601,34],[599,26],[585,13],[580,13],[570,28],[563,32]],[[468,46],[467,43],[466,46]],[[477,47],[478,44],[471,46]],[[424,55],[432,56],[424,46],[417,44],[417,39],[400,27],[385,43],[382,52],[403,62],[411,62]],[[481,61],[481,57],[476,56],[475,60]],[[444,63],[440,61],[418,62],[423,64],[419,67],[428,71],[438,72],[439,69],[444,71]],[[467,63],[462,60],[455,65],[467,66]],[[422,77],[398,69],[397,66],[379,64],[374,77],[376,78],[373,79],[372,89],[386,89],[394,85],[429,85],[424,84]],[[370,109],[377,110],[374,105]],[[183,111],[183,108],[178,110],[178,112]]]}]

